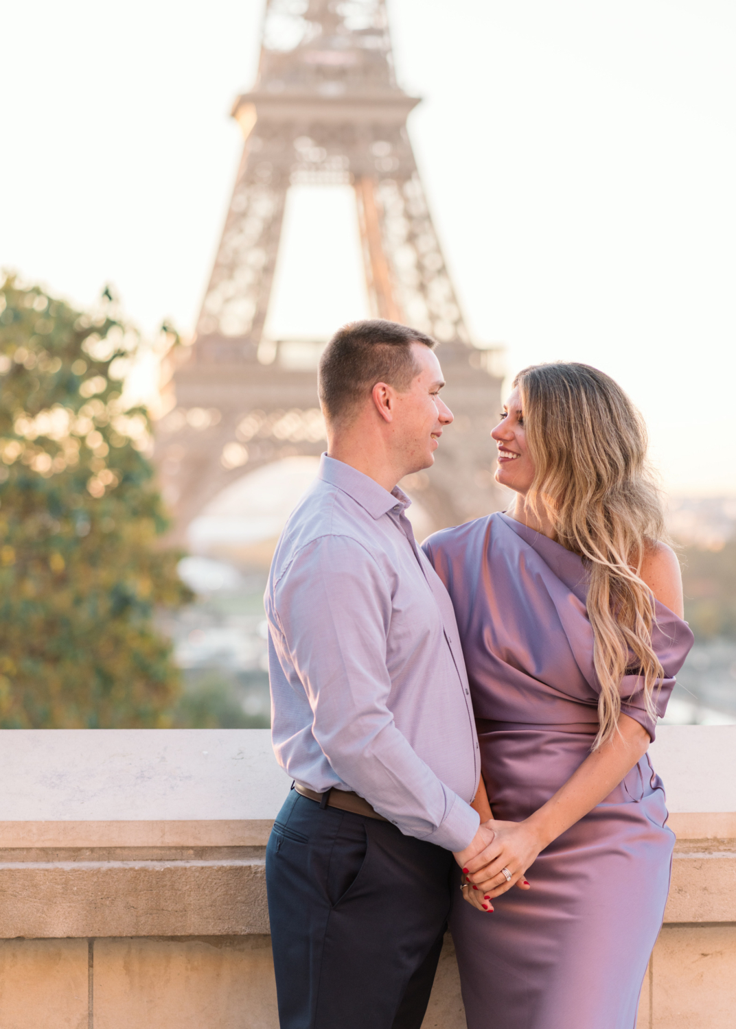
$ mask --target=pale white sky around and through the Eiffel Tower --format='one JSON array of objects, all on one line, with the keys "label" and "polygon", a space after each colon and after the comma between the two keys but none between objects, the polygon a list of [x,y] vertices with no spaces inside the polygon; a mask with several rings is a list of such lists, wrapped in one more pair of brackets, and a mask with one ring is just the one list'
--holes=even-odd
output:
[{"label": "pale white sky around and through the Eiffel Tower", "polygon": [[[510,374],[603,368],[643,412],[668,490],[736,495],[736,5],[388,2],[399,81],[424,98],[410,135],[476,340],[502,344]],[[146,331],[168,318],[190,332],[262,9],[6,7],[0,265],[78,305],[109,282]],[[355,236],[345,190],[290,198],[275,331],[326,334],[364,313],[357,255],[330,261]]]}]

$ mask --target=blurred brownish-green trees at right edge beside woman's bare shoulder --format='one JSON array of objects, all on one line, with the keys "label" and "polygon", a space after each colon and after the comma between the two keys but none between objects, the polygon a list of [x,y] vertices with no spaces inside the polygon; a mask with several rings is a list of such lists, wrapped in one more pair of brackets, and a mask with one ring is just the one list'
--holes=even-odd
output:
[{"label": "blurred brownish-green trees at right edge beside woman's bare shoulder", "polygon": [[680,552],[685,616],[696,639],[736,638],[736,539],[720,551]]}]

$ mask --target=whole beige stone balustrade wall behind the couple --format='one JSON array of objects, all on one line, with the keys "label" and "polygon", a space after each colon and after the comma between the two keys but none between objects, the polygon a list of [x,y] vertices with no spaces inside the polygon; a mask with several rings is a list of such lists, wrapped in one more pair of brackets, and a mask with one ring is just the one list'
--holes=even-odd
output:
[{"label": "whole beige stone balustrade wall behind the couple", "polygon": [[[736,726],[662,726],[677,836],[638,1029],[736,1007]],[[259,730],[0,732],[1,1029],[276,1029]],[[452,942],[425,1029],[464,1026]]]}]

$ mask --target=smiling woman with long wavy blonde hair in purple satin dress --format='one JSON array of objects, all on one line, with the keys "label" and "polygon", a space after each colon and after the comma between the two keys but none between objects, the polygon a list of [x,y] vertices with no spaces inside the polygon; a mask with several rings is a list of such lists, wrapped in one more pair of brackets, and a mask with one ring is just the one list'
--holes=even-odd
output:
[{"label": "smiling woman with long wavy blonde hair in purple satin dress", "polygon": [[526,368],[491,435],[509,511],[424,544],[455,606],[476,804],[496,831],[451,919],[467,1025],[633,1029],[674,843],[646,749],[693,641],[679,566],[641,418],[608,376]]}]

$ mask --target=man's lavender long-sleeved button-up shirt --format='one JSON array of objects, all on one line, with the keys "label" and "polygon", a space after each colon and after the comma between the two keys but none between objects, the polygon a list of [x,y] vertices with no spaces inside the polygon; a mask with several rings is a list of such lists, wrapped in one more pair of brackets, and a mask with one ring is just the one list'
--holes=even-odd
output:
[{"label": "man's lavender long-sleeved button-up shirt", "polygon": [[322,455],[266,593],[272,737],[293,779],[355,790],[457,851],[479,824],[478,739],[452,603],[410,502]]}]

